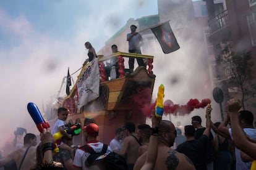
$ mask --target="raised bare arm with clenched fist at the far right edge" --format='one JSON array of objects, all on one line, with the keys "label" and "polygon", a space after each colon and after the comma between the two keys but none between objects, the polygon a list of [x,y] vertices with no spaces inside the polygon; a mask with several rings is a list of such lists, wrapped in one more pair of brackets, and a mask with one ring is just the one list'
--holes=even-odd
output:
[{"label": "raised bare arm with clenched fist at the far right edge", "polygon": [[256,144],[251,142],[242,127],[239,125],[238,111],[241,108],[241,102],[238,99],[231,99],[228,102],[228,111],[230,113],[231,127],[234,143],[236,147],[256,160]]}]

